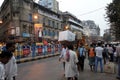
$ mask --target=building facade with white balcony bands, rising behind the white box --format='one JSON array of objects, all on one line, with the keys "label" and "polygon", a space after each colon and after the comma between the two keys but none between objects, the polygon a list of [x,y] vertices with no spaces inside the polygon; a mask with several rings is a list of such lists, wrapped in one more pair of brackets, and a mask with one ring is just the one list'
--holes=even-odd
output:
[{"label": "building facade with white balcony bands, rising behind the white box", "polygon": [[62,13],[64,30],[68,29],[76,34],[76,39],[81,39],[83,35],[82,22],[69,12]]}]

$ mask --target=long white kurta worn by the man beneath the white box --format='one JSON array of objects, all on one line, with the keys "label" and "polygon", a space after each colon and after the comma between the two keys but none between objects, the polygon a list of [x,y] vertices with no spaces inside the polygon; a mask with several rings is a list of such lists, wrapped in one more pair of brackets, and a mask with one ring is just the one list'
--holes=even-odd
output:
[{"label": "long white kurta worn by the man beneath the white box", "polygon": [[65,77],[69,78],[69,77],[75,77],[78,74],[78,70],[77,70],[77,63],[78,63],[78,59],[77,59],[77,55],[74,51],[69,50],[69,54],[70,54],[70,59],[69,61],[66,61],[65,63]]}]

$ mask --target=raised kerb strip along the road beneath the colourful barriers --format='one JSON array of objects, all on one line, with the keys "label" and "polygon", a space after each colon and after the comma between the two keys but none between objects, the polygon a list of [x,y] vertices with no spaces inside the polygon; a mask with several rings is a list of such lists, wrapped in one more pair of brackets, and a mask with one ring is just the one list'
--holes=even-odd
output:
[{"label": "raised kerb strip along the road beneath the colourful barriers", "polygon": [[17,60],[17,64],[24,63],[24,62],[29,62],[29,61],[34,61],[34,60],[38,60],[38,59],[44,59],[44,58],[53,57],[53,56],[58,56],[58,55],[59,55],[59,53],[40,55],[40,56],[35,56],[35,57],[21,58],[21,59]]}]

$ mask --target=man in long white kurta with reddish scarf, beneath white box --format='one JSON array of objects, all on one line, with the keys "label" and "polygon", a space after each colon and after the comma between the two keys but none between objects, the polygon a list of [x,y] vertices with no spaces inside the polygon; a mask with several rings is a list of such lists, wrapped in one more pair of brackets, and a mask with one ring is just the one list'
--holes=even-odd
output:
[{"label": "man in long white kurta with reddish scarf, beneath white box", "polygon": [[73,51],[73,45],[69,44],[67,46],[68,50],[65,55],[65,77],[66,80],[78,80],[78,70],[77,70],[77,55]]}]

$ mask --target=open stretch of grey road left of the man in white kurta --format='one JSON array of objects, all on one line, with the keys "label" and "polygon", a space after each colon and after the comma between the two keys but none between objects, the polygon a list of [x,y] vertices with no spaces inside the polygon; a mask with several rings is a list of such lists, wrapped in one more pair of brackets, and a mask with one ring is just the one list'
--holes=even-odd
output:
[{"label": "open stretch of grey road left of the man in white kurta", "polygon": [[18,64],[17,80],[62,80],[62,64],[58,57]]}]

